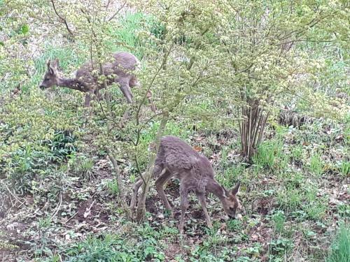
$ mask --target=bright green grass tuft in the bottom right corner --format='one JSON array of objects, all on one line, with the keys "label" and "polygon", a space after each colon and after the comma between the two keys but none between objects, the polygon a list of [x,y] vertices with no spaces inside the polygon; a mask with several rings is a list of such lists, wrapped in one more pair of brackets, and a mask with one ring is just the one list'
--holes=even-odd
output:
[{"label": "bright green grass tuft in the bottom right corner", "polygon": [[335,240],[330,247],[327,262],[348,262],[350,261],[350,228],[342,224]]}]

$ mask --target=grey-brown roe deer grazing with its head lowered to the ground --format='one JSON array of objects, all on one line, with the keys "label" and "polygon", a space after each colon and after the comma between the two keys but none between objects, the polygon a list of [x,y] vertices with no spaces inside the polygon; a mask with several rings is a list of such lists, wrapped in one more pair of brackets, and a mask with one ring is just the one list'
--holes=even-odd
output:
[{"label": "grey-brown roe deer grazing with its head lowered to the ground", "polygon": [[[214,179],[214,170],[207,157],[201,156],[180,138],[176,136],[163,136],[161,138],[160,148],[155,159],[153,177],[156,179],[155,187],[158,195],[168,210],[172,210],[172,208],[169,205],[167,196],[165,196],[163,187],[172,177],[180,180],[181,220],[179,231],[181,234],[183,233],[183,219],[188,208],[189,191],[195,191],[209,228],[212,227],[212,224],[207,211],[206,191],[218,196],[226,214],[230,218],[235,218],[236,210],[239,207],[236,194],[240,183],[237,182],[231,191],[226,190]],[[143,180],[140,178],[134,184],[134,195],[130,203],[131,208],[134,208],[137,191],[142,183]]]}]

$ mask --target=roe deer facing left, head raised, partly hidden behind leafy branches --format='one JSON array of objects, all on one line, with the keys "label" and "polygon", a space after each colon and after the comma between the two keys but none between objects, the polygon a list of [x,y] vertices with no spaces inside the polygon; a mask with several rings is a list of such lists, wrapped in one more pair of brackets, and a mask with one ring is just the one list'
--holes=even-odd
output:
[{"label": "roe deer facing left, head raised, partly hidden behind leafy branches", "polygon": [[[128,52],[116,52],[113,54],[113,61],[107,61],[102,65],[104,75],[106,75],[107,85],[114,82],[120,85],[127,103],[132,103],[132,91],[130,87],[138,85],[134,70],[139,66],[139,60],[133,54]],[[98,83],[98,77],[93,71],[99,72],[99,65],[88,62],[83,64],[74,78],[63,78],[58,71],[58,59],[48,61],[48,70],[46,71],[43,82],[39,85],[41,89],[46,89],[57,85],[59,87],[68,87],[85,93],[85,107],[90,106],[90,101],[93,96],[99,96],[99,89],[104,88],[103,84]],[[151,108],[154,110],[154,105],[151,101],[151,94],[147,96],[151,103]]]}]

